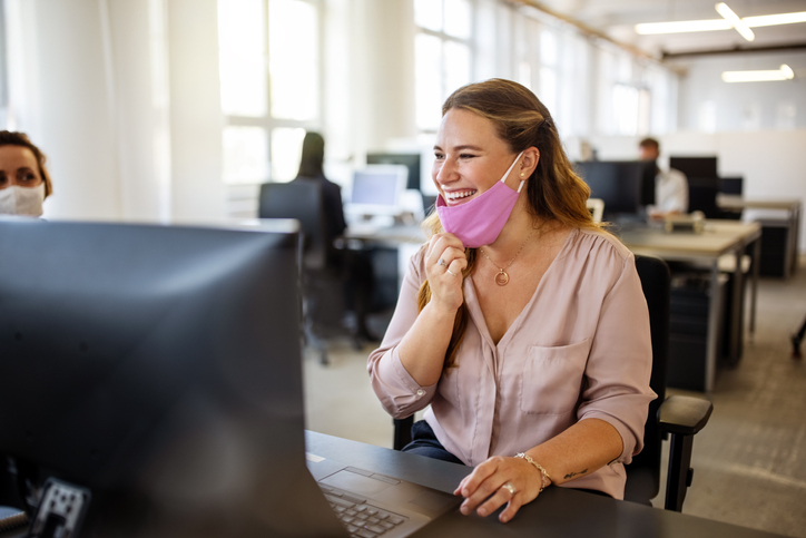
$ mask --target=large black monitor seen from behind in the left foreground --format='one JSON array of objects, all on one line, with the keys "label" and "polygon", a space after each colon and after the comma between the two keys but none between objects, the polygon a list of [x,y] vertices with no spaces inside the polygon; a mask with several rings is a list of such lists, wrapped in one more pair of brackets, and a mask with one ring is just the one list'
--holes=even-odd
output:
[{"label": "large black monitor seen from behind in the left foreground", "polygon": [[330,510],[304,457],[295,222],[4,219],[0,252],[0,480],[12,458],[26,495],[88,491],[80,536],[299,536],[301,499]]}]

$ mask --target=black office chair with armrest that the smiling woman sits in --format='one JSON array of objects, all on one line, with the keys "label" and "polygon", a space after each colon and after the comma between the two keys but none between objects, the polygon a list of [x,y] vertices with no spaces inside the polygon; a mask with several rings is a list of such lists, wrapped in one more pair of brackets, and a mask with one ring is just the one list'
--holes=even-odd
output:
[{"label": "black office chair with armrest that the smiling woman sits in", "polygon": [[[666,398],[666,362],[669,348],[669,267],[653,256],[636,256],[636,268],[649,307],[652,342],[652,374],[650,388],[658,398],[649,404],[643,429],[643,450],[627,466],[625,500],[651,505],[660,490],[660,454],[662,437],[669,434],[669,466],[666,480],[667,510],[681,511],[686,489],[691,485],[694,470],[691,449],[694,436],[710,418],[714,404],[698,398],[674,395]],[[394,419],[393,448],[401,450],[411,442],[414,418]]]}]

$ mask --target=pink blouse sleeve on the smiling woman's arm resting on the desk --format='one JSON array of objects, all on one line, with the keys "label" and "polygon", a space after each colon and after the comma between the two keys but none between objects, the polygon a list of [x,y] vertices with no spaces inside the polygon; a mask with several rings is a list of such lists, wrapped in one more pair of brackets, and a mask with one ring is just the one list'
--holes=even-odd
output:
[{"label": "pink blouse sleeve on the smiling woman's arm resting on the desk", "polygon": [[656,394],[649,389],[652,346],[647,302],[635,257],[619,261],[620,275],[600,311],[577,417],[601,419],[616,428],[623,443],[616,461],[629,463],[643,448],[648,405]]}]

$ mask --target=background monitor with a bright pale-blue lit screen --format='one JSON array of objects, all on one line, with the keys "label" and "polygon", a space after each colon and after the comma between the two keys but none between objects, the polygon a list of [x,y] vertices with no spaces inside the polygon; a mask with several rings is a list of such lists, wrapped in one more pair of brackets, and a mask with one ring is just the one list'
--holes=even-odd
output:
[{"label": "background monitor with a bright pale-blue lit screen", "polygon": [[355,170],[345,211],[360,215],[400,214],[407,174],[403,165],[367,165]]}]

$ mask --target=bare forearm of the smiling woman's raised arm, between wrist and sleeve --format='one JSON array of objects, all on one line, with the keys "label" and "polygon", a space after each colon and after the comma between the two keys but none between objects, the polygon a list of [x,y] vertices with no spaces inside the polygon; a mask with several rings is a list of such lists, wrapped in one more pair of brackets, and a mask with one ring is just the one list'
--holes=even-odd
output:
[{"label": "bare forearm of the smiling woman's raised arm, between wrist and sleeve", "polygon": [[401,341],[401,363],[417,384],[430,387],[440,380],[455,317],[455,310],[430,302]]}]

